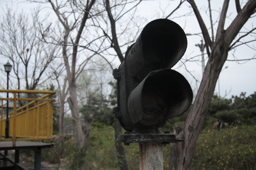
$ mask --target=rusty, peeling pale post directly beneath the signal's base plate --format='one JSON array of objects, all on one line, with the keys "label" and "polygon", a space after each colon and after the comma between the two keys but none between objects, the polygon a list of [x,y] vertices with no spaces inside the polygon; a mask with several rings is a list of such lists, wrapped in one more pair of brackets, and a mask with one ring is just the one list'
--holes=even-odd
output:
[{"label": "rusty, peeling pale post directly beneath the signal's base plate", "polygon": [[162,144],[139,144],[139,154],[139,170],[164,170]]}]

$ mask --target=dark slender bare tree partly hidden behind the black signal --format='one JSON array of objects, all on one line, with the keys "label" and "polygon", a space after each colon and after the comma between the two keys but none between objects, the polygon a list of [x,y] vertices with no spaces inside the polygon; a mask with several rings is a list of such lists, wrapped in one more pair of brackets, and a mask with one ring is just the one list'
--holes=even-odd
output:
[{"label": "dark slender bare tree partly hidden behind the black signal", "polygon": [[[123,52],[121,52],[121,47],[124,47],[125,45],[135,41],[134,37],[137,37],[136,35],[139,33],[138,32],[139,27],[137,29],[137,32],[135,32],[135,35],[131,36],[132,39],[130,39],[130,41],[121,42],[120,36],[122,36],[123,34],[127,35],[129,29],[131,28],[130,26],[132,26],[133,31],[134,31],[135,26],[134,26],[133,22],[135,22],[135,17],[134,17],[134,14],[136,12],[135,9],[136,9],[137,5],[141,2],[141,0],[139,0],[137,2],[134,0],[132,0],[132,1],[128,1],[128,0],[115,1],[115,3],[113,3],[111,5],[110,5],[110,0],[103,0],[103,2],[104,2],[104,6],[106,8],[106,11],[108,14],[108,19],[110,22],[110,30],[103,29],[103,31],[104,31],[105,36],[108,38],[108,40],[110,42],[110,46],[115,50],[116,55],[118,56],[120,62],[123,62],[124,56],[123,56]],[[136,3],[134,3],[134,2],[136,2]],[[130,3],[133,3],[133,5],[130,8],[125,8]],[[118,10],[118,8],[121,8],[121,10],[120,9]],[[122,10],[122,9],[125,9],[125,10]],[[114,12],[116,15],[113,16],[112,12]],[[120,29],[117,30],[116,25],[119,24],[119,21],[122,20],[124,18],[124,16],[126,17],[125,14],[127,14],[129,12],[132,15],[128,19],[128,22],[126,23],[126,27],[123,30],[120,30]],[[122,20],[121,22],[124,23],[124,20]],[[127,38],[127,40],[128,39],[129,38]],[[114,128],[115,128],[115,139],[117,140],[118,136],[122,133],[122,127],[121,127],[118,119],[115,119]],[[124,150],[123,145],[121,143],[116,142],[116,149],[118,152],[118,161],[119,161],[120,170],[128,170],[128,165],[127,165],[127,161],[126,161],[126,157],[125,157],[125,150]]]}]

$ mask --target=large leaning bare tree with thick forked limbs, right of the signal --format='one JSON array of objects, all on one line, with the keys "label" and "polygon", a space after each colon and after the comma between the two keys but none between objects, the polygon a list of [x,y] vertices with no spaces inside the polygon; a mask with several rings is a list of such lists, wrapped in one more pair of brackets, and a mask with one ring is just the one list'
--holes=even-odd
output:
[{"label": "large leaning bare tree with thick forked limbs, right of the signal", "polygon": [[[201,84],[198,89],[192,109],[180,130],[175,130],[175,135],[179,139],[184,139],[184,142],[171,144],[170,170],[189,170],[192,165],[192,156],[196,144],[196,140],[202,128],[204,119],[208,112],[210,101],[214,93],[215,85],[218,80],[221,68],[227,60],[229,51],[236,45],[241,45],[239,40],[251,34],[255,27],[248,30],[247,33],[239,34],[241,28],[245,25],[248,19],[255,13],[256,1],[248,0],[244,7],[240,7],[239,0],[236,0],[238,15],[233,19],[231,24],[226,29],[224,28],[227,19],[227,10],[229,0],[224,0],[217,32],[214,35],[213,24],[211,18],[211,8],[209,0],[210,12],[210,33],[201,17],[201,13],[196,6],[194,0],[187,0],[191,5],[195,17],[198,20],[201,32],[205,41],[208,62],[205,67]],[[236,37],[239,34],[238,37]],[[255,40],[254,40],[255,41]],[[242,43],[246,44],[246,43]]]}]

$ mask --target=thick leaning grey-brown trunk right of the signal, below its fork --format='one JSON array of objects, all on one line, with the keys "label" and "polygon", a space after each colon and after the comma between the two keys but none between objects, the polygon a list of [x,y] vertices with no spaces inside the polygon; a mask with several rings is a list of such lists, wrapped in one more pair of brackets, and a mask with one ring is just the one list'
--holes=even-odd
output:
[{"label": "thick leaning grey-brown trunk right of the signal, below its fork", "polygon": [[[228,50],[223,55],[218,52],[213,53],[212,60],[206,65],[200,88],[182,131],[175,134],[178,139],[184,139],[184,142],[171,144],[169,170],[191,169],[194,146],[210,107],[210,100],[221,68],[228,56]],[[221,62],[219,62],[220,59]],[[219,64],[216,65],[216,62]]]}]

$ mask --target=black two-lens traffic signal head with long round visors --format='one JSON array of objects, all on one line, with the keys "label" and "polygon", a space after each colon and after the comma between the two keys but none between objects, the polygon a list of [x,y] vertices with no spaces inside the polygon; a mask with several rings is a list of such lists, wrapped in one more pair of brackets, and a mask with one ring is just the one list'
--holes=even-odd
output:
[{"label": "black two-lens traffic signal head with long round visors", "polygon": [[168,19],[148,23],[113,70],[118,81],[115,116],[133,134],[158,133],[168,119],[183,114],[192,103],[188,81],[172,68],[183,56],[187,38]]}]

